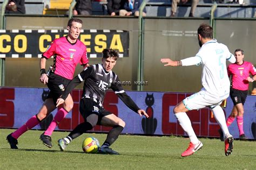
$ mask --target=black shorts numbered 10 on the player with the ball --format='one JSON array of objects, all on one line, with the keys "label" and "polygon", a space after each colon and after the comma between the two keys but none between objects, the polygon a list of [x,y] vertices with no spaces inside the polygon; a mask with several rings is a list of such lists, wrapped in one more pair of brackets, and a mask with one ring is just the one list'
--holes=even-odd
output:
[{"label": "black shorts numbered 10 on the player with the ball", "polygon": [[96,103],[91,98],[82,98],[80,100],[79,111],[80,114],[83,116],[84,121],[86,121],[86,118],[91,114],[98,115],[97,125],[100,124],[100,121],[102,121],[102,118],[104,116],[112,114],[110,111],[107,111],[103,107],[100,107],[99,103]]}]

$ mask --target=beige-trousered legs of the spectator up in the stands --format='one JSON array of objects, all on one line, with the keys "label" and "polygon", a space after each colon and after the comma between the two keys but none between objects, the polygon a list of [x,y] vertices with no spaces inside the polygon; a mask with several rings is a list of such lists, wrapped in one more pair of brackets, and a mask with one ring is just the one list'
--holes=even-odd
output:
[{"label": "beige-trousered legs of the spectator up in the stands", "polygon": [[[182,4],[187,3],[190,0],[181,0]],[[180,0],[172,0],[172,13],[171,13],[171,17],[176,17],[176,12],[177,12],[177,5],[180,2]],[[189,17],[194,17],[194,11],[197,8],[197,4],[198,4],[199,0],[191,0],[191,9],[190,9],[190,15]]]}]

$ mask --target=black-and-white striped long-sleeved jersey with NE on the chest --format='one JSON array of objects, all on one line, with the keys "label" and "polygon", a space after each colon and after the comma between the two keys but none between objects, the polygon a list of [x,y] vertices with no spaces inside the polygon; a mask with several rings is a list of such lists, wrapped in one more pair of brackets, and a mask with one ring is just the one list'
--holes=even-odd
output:
[{"label": "black-and-white striped long-sleeved jersey with NE on the chest", "polygon": [[[100,107],[103,107],[106,91],[111,88],[128,108],[134,112],[138,112],[139,107],[134,103],[131,97],[125,93],[118,76],[112,72],[112,70],[106,72],[102,64],[86,67],[83,72],[71,80],[61,98],[65,100],[69,93],[82,81],[84,81],[82,98],[91,98],[98,103]],[[83,107],[86,107],[86,103]]]}]

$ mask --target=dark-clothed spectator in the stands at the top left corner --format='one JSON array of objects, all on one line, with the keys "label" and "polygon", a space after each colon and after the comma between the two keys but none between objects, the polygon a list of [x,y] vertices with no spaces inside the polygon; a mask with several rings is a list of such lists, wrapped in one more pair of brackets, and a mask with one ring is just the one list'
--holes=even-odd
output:
[{"label": "dark-clothed spectator in the stands at the top left corner", "polygon": [[25,14],[25,0],[9,0],[6,5],[5,13],[21,13]]}]

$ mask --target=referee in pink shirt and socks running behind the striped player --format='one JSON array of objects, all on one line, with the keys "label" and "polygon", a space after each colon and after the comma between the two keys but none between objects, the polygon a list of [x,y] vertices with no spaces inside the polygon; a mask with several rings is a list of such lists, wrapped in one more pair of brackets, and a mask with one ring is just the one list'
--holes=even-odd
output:
[{"label": "referee in pink shirt and socks running behind the striped player", "polygon": [[[50,93],[39,112],[35,116],[32,116],[23,126],[21,126],[21,128],[7,136],[6,139],[12,149],[18,149],[17,139],[24,132],[38,125],[56,109],[57,98],[63,94],[65,87],[68,86],[68,83],[73,79],[73,74],[75,73],[77,64],[80,63],[84,68],[89,66],[86,46],[82,41],[78,40],[82,24],[82,20],[78,18],[71,18],[67,26],[69,31],[68,36],[53,40],[46,51],[42,54],[42,58],[40,60],[40,81],[45,85],[47,84],[50,89]],[[51,58],[51,56],[53,56],[53,65],[50,74],[47,75],[45,64],[46,60]],[[72,108],[73,100],[69,94],[63,104],[63,108],[57,111],[49,125],[49,128],[40,136],[44,145],[50,148],[52,147],[51,134],[53,130]]]}]

